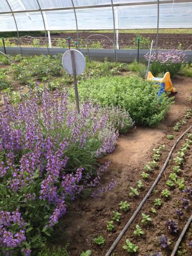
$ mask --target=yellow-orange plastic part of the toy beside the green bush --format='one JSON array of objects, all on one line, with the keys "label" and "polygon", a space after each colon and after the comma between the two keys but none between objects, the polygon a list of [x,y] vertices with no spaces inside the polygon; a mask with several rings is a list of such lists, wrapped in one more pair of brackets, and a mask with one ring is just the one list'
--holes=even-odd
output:
[{"label": "yellow-orange plastic part of the toy beside the green bush", "polygon": [[164,86],[165,92],[172,92],[172,93],[176,92],[176,88],[173,87],[172,81],[170,80],[169,72],[166,72],[164,77],[154,77],[152,72],[149,71],[147,74],[147,80],[154,81],[154,82],[160,84],[161,86]]}]

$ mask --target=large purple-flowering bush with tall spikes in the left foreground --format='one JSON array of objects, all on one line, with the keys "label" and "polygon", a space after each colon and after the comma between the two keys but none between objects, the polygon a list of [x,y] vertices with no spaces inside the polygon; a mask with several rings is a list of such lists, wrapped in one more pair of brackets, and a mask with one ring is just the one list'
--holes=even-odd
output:
[{"label": "large purple-flowering bush with tall spikes in the left foreground", "polygon": [[[114,187],[113,180],[101,186],[101,174],[109,163],[96,170],[94,163],[98,156],[114,150],[118,131],[107,122],[108,114],[92,102],[82,103],[78,114],[66,92],[51,97],[44,90],[40,104],[39,98],[31,97],[17,108],[6,104],[0,113],[0,148],[4,152],[0,179],[12,196],[19,195],[19,210],[27,211],[29,202],[35,209],[46,204],[49,217],[44,227],[49,228],[65,215],[69,201],[83,188],[94,187],[96,196]],[[10,212],[0,212],[0,247],[4,248],[20,247],[26,240],[28,215],[24,221],[18,209],[11,207],[15,206],[9,205]],[[13,232],[14,223],[19,230]],[[22,252],[30,255],[30,249],[22,248]]]}]

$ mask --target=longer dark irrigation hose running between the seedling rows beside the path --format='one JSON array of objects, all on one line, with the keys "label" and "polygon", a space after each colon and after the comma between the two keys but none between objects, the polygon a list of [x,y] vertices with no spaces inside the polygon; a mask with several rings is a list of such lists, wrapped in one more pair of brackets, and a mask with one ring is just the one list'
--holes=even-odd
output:
[{"label": "longer dark irrigation hose running between the seedling rows beside the path", "polygon": [[143,205],[145,204],[145,202],[147,201],[147,199],[150,197],[153,189],[155,188],[155,186],[157,185],[157,183],[159,182],[162,174],[164,173],[164,170],[168,164],[168,161],[170,160],[170,157],[172,156],[177,144],[179,143],[179,141],[183,138],[183,136],[188,133],[188,131],[192,129],[192,125],[190,125],[190,127],[181,134],[181,136],[177,139],[177,141],[174,143],[172,149],[170,150],[168,157],[161,169],[161,172],[159,173],[159,175],[157,176],[155,182],[153,183],[153,185],[151,186],[150,190],[148,190],[146,196],[143,198],[143,200],[141,201],[141,203],[139,204],[139,206],[137,207],[137,209],[135,210],[134,214],[132,215],[132,217],[130,218],[130,220],[126,223],[126,225],[124,226],[124,228],[122,229],[122,231],[120,232],[119,236],[116,238],[116,240],[114,241],[114,243],[112,244],[112,246],[110,247],[109,251],[106,252],[105,256],[110,256],[111,253],[113,252],[113,250],[115,249],[115,247],[117,246],[117,244],[119,243],[119,241],[121,240],[121,238],[123,237],[124,233],[126,232],[126,230],[130,227],[130,225],[132,224],[132,222],[134,221],[134,219],[136,218],[136,216],[138,215],[140,209],[143,207]]}]

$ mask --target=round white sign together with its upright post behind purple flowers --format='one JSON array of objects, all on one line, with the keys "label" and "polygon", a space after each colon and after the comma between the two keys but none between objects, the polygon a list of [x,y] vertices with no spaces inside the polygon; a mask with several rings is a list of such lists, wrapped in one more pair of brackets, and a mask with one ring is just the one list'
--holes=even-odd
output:
[{"label": "round white sign together with its upright post behind purple flowers", "polygon": [[80,113],[79,108],[79,95],[77,89],[77,75],[81,74],[86,68],[86,60],[81,52],[78,50],[68,50],[62,56],[62,66],[70,74],[73,75],[74,90],[75,90],[75,101],[77,111]]}]

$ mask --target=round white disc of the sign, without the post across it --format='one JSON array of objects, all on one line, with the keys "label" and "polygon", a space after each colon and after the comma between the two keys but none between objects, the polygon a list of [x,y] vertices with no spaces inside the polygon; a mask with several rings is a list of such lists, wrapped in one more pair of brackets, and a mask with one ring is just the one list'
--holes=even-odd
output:
[{"label": "round white disc of the sign, without the post across it", "polygon": [[71,51],[74,52],[74,58],[75,58],[75,69],[76,69],[76,75],[81,74],[84,69],[86,68],[86,59],[82,55],[81,52],[71,49],[66,51],[62,55],[62,67],[70,74],[73,75],[73,67],[72,67],[72,60],[71,60]]}]

